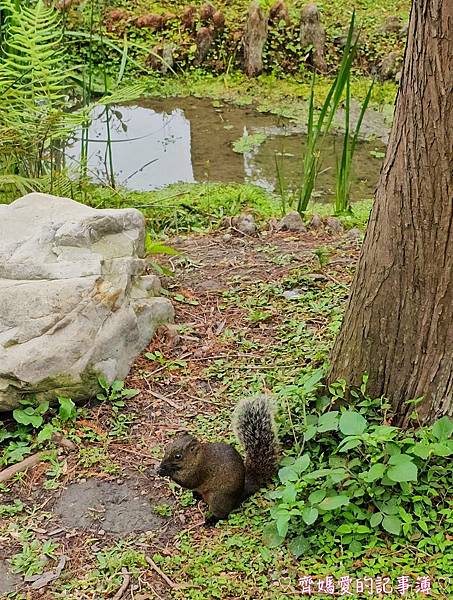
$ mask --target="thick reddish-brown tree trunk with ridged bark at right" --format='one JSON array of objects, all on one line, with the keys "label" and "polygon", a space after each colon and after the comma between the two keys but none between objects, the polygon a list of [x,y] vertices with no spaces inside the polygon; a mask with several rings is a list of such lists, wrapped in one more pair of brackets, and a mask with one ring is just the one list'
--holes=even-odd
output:
[{"label": "thick reddish-brown tree trunk with ridged bark at right", "polygon": [[391,399],[399,424],[453,413],[453,0],[414,0],[376,201],[330,380]]}]

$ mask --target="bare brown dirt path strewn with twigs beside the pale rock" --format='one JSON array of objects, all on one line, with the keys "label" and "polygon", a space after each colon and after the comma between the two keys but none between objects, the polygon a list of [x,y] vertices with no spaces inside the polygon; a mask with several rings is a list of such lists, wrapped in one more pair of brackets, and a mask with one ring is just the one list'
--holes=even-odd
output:
[{"label": "bare brown dirt path strewn with twigs beside the pale rock", "polygon": [[[60,451],[55,486],[46,489],[49,463],[44,462],[10,485],[9,492],[0,492],[0,504],[17,499],[24,502],[30,515],[26,527],[33,539],[58,544],[58,556],[49,561],[45,571],[55,569],[61,556],[65,562],[55,581],[33,589],[42,584],[39,578],[38,582],[24,581],[7,567],[6,559],[21,547],[19,530],[13,528],[2,536],[0,528],[2,598],[14,589],[23,590],[30,600],[99,598],[94,588],[65,591],[64,584],[83,578],[93,568],[96,554],[115,543],[125,543],[151,559],[131,579],[121,598],[170,598],[174,584],[151,557],[156,552],[174,552],[179,532],[191,531],[197,538],[213,536],[215,531],[200,527],[202,505],[182,506],[177,491],[157,477],[162,448],[175,432],[196,424],[200,428],[200,419],[208,424],[208,436],[228,435],[228,381],[210,378],[209,367],[219,360],[237,360],[238,369],[245,367],[244,372],[253,370],[254,365],[256,371],[265,372],[266,365],[260,350],[241,353],[223,334],[243,325],[250,329],[251,337],[271,347],[281,321],[281,315],[274,314],[270,321],[250,322],[240,303],[222,305],[225,292],[246,289],[256,282],[277,282],[303,267],[312,271],[314,280],[334,281],[346,288],[351,278],[349,267],[356,261],[360,243],[353,236],[334,236],[322,229],[260,237],[218,232],[176,238],[169,245],[181,253],[160,261],[175,271],[175,276],[164,283],[175,300],[176,326],[159,330],[137,359],[126,384],[140,393],[116,413],[108,403],[86,406],[75,426],[78,449]],[[319,247],[331,252],[322,270],[313,252]],[[289,290],[288,297],[291,293],[294,291]],[[146,353],[153,353],[155,359],[150,361]],[[210,431],[210,419],[222,411],[226,414],[224,432],[219,432],[218,426]],[[118,427],[121,413],[130,417],[127,433],[113,435],[112,427]],[[162,514],[158,510],[162,505],[170,506],[171,514]],[[115,592],[111,597],[117,598]]]}]

